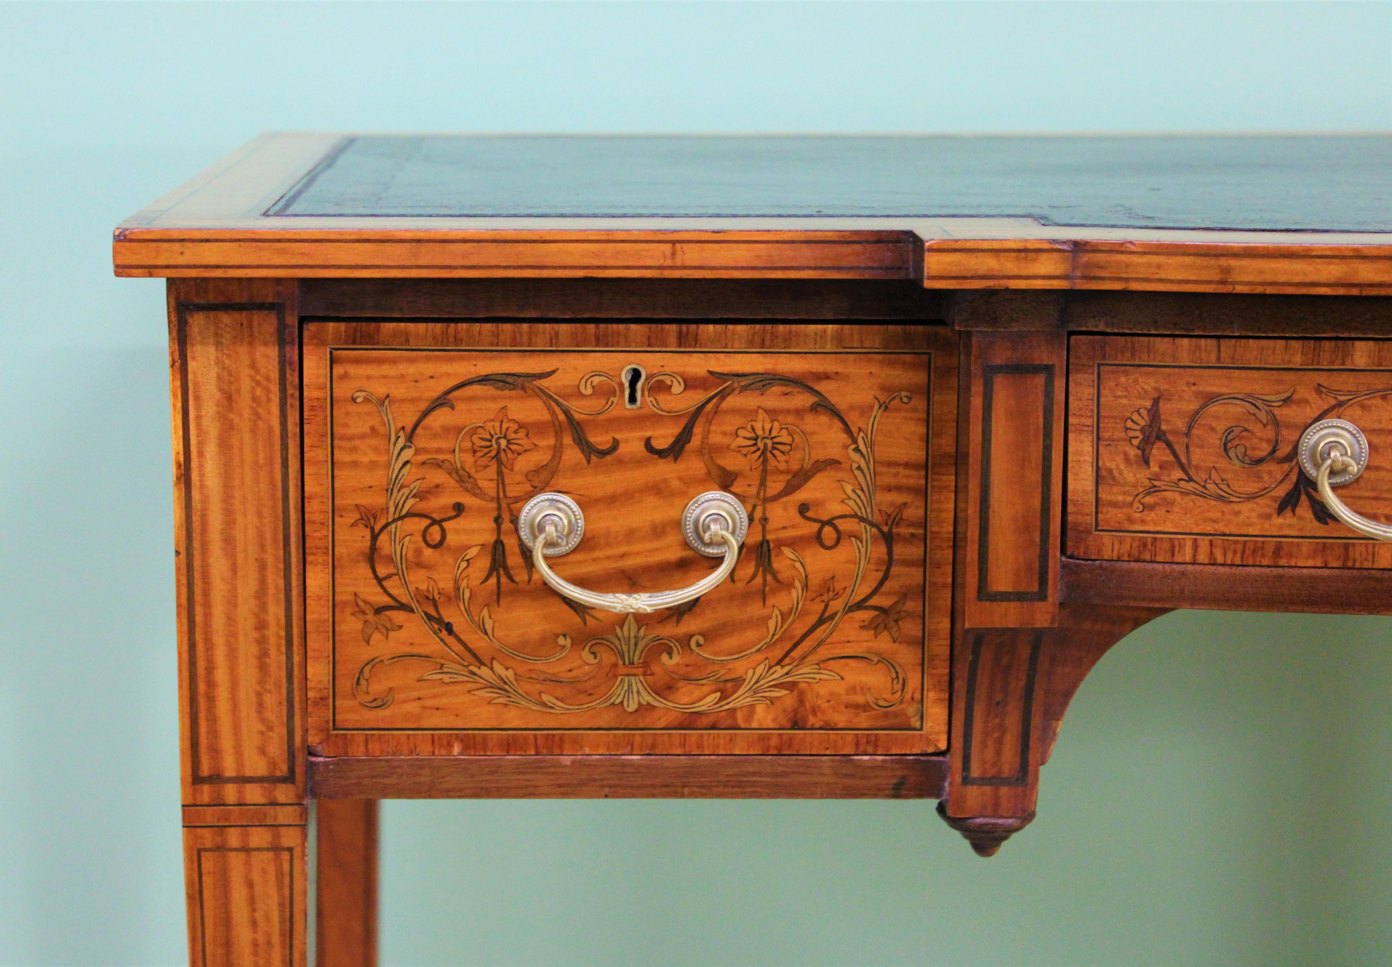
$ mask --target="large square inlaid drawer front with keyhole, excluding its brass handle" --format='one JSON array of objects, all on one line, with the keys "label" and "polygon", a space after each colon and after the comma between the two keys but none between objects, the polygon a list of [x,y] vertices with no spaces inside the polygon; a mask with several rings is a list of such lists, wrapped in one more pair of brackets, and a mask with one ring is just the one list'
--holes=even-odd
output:
[{"label": "large square inlaid drawer front with keyhole, excluding its brass handle", "polygon": [[[910,326],[309,323],[312,743],[944,749],[954,344]],[[553,590],[518,532],[532,497],[562,494],[583,533],[547,559],[560,577],[682,589],[722,561],[683,537],[707,491],[748,512],[735,570],[651,614]]]}]

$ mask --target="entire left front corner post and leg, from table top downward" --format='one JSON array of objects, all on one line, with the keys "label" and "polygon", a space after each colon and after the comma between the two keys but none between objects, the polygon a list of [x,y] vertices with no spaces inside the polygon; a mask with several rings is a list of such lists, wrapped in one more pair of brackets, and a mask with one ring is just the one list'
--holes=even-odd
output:
[{"label": "entire left front corner post and leg, from table top downward", "polygon": [[309,967],[299,317],[168,284],[189,963]]}]

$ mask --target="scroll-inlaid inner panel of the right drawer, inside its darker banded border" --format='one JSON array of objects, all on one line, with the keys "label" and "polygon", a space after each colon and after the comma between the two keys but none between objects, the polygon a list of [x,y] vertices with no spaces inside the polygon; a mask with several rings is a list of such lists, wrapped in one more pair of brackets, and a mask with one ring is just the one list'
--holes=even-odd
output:
[{"label": "scroll-inlaid inner panel of the right drawer, inside its darker banded border", "polygon": [[[1101,363],[1097,392],[1096,522],[1109,533],[1347,540],[1300,470],[1300,437],[1345,417],[1377,451],[1392,426],[1385,370]],[[1381,513],[1381,467],[1359,486]]]}]

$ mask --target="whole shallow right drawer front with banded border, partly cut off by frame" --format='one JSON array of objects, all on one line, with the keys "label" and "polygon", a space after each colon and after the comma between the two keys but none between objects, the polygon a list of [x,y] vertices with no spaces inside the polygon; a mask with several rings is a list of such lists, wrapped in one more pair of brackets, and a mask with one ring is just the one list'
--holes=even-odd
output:
[{"label": "whole shallow right drawer front with banded border, partly cut off by frame", "polygon": [[1339,497],[1392,522],[1392,344],[1075,337],[1069,348],[1069,554],[1212,564],[1392,565],[1300,469],[1310,424],[1363,430]]}]

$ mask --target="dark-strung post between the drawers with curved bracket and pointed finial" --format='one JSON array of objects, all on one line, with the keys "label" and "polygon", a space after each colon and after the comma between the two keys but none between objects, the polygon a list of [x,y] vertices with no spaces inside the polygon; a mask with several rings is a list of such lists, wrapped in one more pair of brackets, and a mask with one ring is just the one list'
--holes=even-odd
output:
[{"label": "dark-strung post between the drawers with curved bracket and pointed finial", "polygon": [[[1019,306],[1016,306],[1019,309]],[[1052,301],[1020,331],[965,331],[952,714],[938,813],[980,856],[1034,818],[1038,769],[1098,658],[1161,614],[1059,601],[1068,337]]]}]

